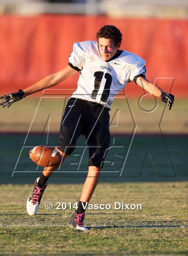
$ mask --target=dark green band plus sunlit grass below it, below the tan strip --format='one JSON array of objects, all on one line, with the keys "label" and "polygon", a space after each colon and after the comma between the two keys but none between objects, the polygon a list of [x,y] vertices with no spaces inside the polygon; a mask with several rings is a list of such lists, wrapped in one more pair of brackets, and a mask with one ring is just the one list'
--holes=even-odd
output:
[{"label": "dark green band plus sunlit grass below it, below the tan strip", "polygon": [[[114,136],[117,145],[127,145],[130,141],[130,135]],[[72,170],[67,159],[61,171],[51,176],[38,214],[27,215],[26,199],[41,170],[36,171],[36,166],[31,164],[30,148],[26,148],[14,171],[25,138],[24,133],[1,135],[0,255],[171,256],[188,253],[186,136],[164,136],[173,167],[164,162],[164,159],[168,160],[164,154],[166,148],[161,146],[159,135],[135,137],[136,151],[128,158],[128,172],[123,172],[123,176],[120,176],[118,162],[115,163],[119,172],[115,173],[107,173],[109,168],[114,169],[105,164],[91,203],[110,203],[112,208],[87,211],[85,225],[90,228],[87,234],[68,227],[73,210],[56,210],[56,202],[78,201],[87,173],[86,167],[81,173]],[[51,134],[49,142],[56,144],[57,138]],[[26,145],[43,144],[45,139],[45,134],[42,137],[33,134]],[[79,143],[83,143],[83,138]],[[147,149],[145,145],[150,148],[151,156],[157,156],[152,159],[157,160],[155,170],[158,175],[150,157],[144,158],[141,154]],[[51,211],[45,208],[46,202],[54,204]],[[114,210],[114,202],[141,203],[142,210]]]}]

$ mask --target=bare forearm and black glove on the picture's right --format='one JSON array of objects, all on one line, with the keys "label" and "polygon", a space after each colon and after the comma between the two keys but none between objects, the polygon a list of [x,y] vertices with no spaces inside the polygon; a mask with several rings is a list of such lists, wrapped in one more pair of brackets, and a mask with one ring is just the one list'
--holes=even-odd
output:
[{"label": "bare forearm and black glove on the picture's right", "polygon": [[149,92],[149,94],[156,97],[161,97],[162,102],[168,102],[169,110],[171,109],[172,104],[174,103],[174,95],[164,92],[160,87],[158,87],[158,85],[151,83],[142,76],[137,78],[137,85],[141,86],[144,90]]}]

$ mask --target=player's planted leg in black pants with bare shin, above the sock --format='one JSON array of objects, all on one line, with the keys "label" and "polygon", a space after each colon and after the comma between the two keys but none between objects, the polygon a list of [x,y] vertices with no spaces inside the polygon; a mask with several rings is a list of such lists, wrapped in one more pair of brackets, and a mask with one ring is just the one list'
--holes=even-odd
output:
[{"label": "player's planted leg in black pants with bare shin, above the sock", "polygon": [[107,108],[99,106],[95,109],[95,114],[96,117],[92,123],[92,129],[86,136],[87,144],[89,145],[89,171],[81,192],[81,202],[90,201],[94,189],[98,184],[111,139],[109,130],[110,116]]}]

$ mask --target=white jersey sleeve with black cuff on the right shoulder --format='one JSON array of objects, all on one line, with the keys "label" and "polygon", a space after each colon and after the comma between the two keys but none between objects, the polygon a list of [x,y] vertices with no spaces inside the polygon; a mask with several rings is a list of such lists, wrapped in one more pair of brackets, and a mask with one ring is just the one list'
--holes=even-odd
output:
[{"label": "white jersey sleeve with black cuff on the right shoulder", "polygon": [[137,78],[139,76],[145,77],[145,74],[145,60],[143,58],[140,58],[139,61],[137,61],[134,67],[130,70],[129,81],[134,81],[135,83],[137,83]]}]

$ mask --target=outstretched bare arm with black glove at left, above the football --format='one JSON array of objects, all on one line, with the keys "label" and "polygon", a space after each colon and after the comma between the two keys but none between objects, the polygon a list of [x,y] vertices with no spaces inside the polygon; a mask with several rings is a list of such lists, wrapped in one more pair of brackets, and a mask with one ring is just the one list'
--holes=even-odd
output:
[{"label": "outstretched bare arm with black glove at left, above the football", "polygon": [[24,90],[19,90],[18,92],[6,94],[1,96],[0,99],[4,99],[0,105],[4,107],[10,107],[14,102],[25,98],[27,95],[34,94],[38,91],[47,89],[49,87],[58,85],[60,82],[64,81],[69,76],[73,75],[77,71],[70,66],[65,67],[64,69],[44,77],[42,80],[36,82],[34,85],[27,87]]}]

